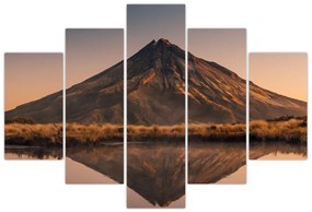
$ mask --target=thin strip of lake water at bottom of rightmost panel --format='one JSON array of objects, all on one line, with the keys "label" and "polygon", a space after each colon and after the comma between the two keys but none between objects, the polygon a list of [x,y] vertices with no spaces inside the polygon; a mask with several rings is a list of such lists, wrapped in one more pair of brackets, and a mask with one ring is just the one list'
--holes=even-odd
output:
[{"label": "thin strip of lake water at bottom of rightmost panel", "polygon": [[251,160],[305,160],[307,143],[251,142]]}]

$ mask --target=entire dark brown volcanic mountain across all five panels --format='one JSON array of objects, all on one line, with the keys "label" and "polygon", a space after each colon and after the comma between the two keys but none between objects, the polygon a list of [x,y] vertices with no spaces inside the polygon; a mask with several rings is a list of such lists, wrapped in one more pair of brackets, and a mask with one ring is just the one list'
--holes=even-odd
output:
[{"label": "entire dark brown volcanic mountain across all five panels", "polygon": [[[127,121],[174,125],[185,120],[185,51],[152,40],[127,60]],[[66,91],[69,122],[123,123],[124,62]],[[244,122],[245,80],[212,61],[188,54],[189,122]],[[250,83],[251,119],[307,115],[307,103]],[[36,122],[61,121],[61,92],[5,113]]]}]

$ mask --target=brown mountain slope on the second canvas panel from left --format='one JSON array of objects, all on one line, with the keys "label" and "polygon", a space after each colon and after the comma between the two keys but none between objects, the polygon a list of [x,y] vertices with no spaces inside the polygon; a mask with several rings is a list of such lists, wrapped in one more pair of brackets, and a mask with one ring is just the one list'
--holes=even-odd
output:
[{"label": "brown mountain slope on the second canvas panel from left", "polygon": [[123,123],[124,63],[77,84],[66,91],[68,122]]}]

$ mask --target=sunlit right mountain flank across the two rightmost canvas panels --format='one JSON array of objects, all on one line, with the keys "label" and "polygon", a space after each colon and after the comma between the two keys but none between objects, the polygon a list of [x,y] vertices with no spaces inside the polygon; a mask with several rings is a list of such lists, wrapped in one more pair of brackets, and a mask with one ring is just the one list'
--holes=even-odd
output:
[{"label": "sunlit right mountain flank across the two rightmost canvas panels", "polygon": [[[190,122],[244,122],[246,82],[211,61],[188,57],[188,113]],[[307,103],[250,83],[251,119],[304,116]]]}]

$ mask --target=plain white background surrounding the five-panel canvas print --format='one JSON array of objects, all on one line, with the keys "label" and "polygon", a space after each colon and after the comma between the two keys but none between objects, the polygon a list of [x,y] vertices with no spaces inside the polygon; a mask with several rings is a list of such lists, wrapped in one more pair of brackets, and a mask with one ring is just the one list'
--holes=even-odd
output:
[{"label": "plain white background surrounding the five-panel canvas print", "polygon": [[[149,1],[131,1],[146,2]],[[167,1],[153,3],[161,2]],[[246,27],[249,51],[308,51],[312,59],[310,0],[171,2],[186,3],[187,27]],[[63,51],[66,27],[125,27],[126,3],[130,2],[1,0],[0,110],[3,111],[3,52]],[[67,186],[63,161],[4,161],[3,113],[0,122],[0,211],[126,210],[124,185]],[[311,158],[255,161],[249,162],[245,186],[187,186],[186,211],[311,211]]]}]

